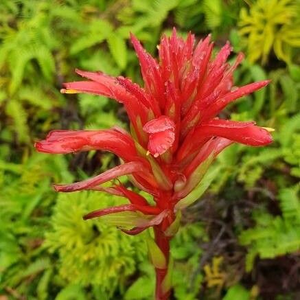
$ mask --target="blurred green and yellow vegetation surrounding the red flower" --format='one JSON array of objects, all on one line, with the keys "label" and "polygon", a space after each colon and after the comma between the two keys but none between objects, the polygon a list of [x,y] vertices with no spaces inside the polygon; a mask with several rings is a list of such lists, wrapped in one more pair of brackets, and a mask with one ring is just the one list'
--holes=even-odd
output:
[{"label": "blurred green and yellow vegetation surrounding the red flower", "polygon": [[91,209],[122,202],[100,193],[56,194],[117,164],[112,154],[38,154],[53,129],[127,127],[106,97],[61,95],[74,69],[141,82],[129,32],[157,55],[175,26],[246,53],[237,85],[272,83],[222,114],[275,128],[268,148],[228,148],[209,192],[185,211],[172,241],[173,299],[300,298],[299,0],[0,1],[0,299],[152,299],[142,237]]}]

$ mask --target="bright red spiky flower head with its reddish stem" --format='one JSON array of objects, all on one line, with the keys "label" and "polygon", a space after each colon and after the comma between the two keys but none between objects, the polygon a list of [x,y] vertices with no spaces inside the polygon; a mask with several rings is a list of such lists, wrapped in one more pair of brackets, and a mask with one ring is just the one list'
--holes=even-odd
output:
[{"label": "bright red spiky flower head with its reddish stem", "polygon": [[[120,165],[94,178],[54,188],[58,192],[93,189],[127,198],[128,204],[92,211],[84,220],[119,217],[119,228],[131,235],[153,227],[154,240],[150,235],[146,240],[157,272],[156,297],[168,299],[172,268],[169,242],[178,229],[181,209],[197,200],[199,195],[192,192],[201,185],[209,164],[231,143],[265,146],[272,141],[269,128],[217,116],[227,104],[269,81],[233,86],[233,71],[243,55],[238,54],[229,65],[231,46],[226,43],[212,58],[210,36],[194,47],[193,34],[184,41],[173,30],[170,38],[161,38],[159,61],[133,35],[131,42],[141,65],[143,87],[122,76],[76,70],[88,80],[65,83],[62,89],[62,93],[92,93],[122,103],[130,119],[130,133],[117,127],[55,130],[37,142],[36,149],[46,153],[107,150],[121,159]],[[122,175],[128,175],[137,189],[151,194],[155,205],[119,181],[112,181]],[[108,181],[111,187],[104,187]]]}]

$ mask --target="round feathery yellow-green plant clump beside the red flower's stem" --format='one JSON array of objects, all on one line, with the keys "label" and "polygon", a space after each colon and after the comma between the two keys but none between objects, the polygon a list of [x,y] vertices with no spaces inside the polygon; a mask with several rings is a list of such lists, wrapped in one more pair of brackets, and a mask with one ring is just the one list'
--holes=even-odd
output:
[{"label": "round feathery yellow-green plant clump beside the red flower's stem", "polygon": [[145,259],[141,238],[125,235],[102,220],[82,221],[90,211],[123,203],[124,198],[100,192],[58,196],[45,246],[51,253],[57,251],[59,274],[67,282],[97,286],[103,297],[111,297]]}]

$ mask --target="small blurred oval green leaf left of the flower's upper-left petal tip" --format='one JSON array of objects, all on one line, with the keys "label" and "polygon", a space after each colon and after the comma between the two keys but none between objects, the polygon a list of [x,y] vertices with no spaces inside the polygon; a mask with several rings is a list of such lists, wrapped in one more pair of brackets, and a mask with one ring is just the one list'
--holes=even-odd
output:
[{"label": "small blurred oval green leaf left of the flower's upper-left petal tip", "polygon": [[107,43],[118,67],[124,70],[127,65],[126,41],[124,38],[117,36],[117,34],[111,34],[108,36]]}]

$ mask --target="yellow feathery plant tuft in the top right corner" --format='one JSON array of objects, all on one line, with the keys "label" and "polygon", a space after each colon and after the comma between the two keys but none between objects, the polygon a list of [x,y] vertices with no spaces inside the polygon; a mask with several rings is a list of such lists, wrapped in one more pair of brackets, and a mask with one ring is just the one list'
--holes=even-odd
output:
[{"label": "yellow feathery plant tuft in the top right corner", "polygon": [[273,49],[277,58],[291,62],[292,49],[300,46],[299,1],[257,0],[249,12],[240,11],[240,35],[247,45],[250,62],[265,64]]}]

